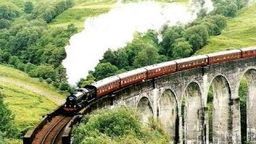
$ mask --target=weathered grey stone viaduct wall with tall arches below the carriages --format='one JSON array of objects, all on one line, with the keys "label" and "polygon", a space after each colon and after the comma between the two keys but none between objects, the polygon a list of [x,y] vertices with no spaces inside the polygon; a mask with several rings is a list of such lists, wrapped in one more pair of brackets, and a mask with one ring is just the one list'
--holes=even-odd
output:
[{"label": "weathered grey stone viaduct wall with tall arches below the carriages", "polygon": [[[137,106],[143,122],[150,116],[158,118],[172,143],[241,143],[238,88],[244,77],[248,86],[246,137],[256,143],[256,58],[182,70],[140,82],[115,91],[112,104]],[[207,99],[209,91],[212,97]]]}]

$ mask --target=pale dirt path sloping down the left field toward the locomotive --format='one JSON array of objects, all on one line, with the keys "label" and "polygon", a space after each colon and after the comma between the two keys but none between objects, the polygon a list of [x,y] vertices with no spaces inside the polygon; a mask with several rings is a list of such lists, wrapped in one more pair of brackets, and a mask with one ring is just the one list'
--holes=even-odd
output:
[{"label": "pale dirt path sloping down the left field toward the locomotive", "polygon": [[34,86],[28,86],[26,85],[26,83],[24,82],[18,82],[18,81],[14,81],[13,79],[11,78],[4,78],[4,77],[0,77],[0,82],[5,82],[5,83],[10,83],[12,85],[15,85],[15,86],[19,86],[19,87],[22,87],[26,90],[30,90],[36,94],[39,94],[39,95],[42,95],[46,98],[49,98],[51,99],[52,101],[54,102],[58,102],[58,104],[63,104],[65,101],[62,100],[61,98],[58,98],[50,93],[47,93],[46,91],[44,90],[40,90],[38,89],[37,87],[34,87]]}]

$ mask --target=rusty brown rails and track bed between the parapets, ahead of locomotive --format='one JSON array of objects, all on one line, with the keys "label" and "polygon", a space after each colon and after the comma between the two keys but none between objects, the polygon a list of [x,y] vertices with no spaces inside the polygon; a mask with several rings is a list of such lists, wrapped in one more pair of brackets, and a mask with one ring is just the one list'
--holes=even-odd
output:
[{"label": "rusty brown rails and track bed between the parapets, ahead of locomotive", "polygon": [[62,143],[62,132],[72,117],[57,115],[36,134],[33,144]]}]

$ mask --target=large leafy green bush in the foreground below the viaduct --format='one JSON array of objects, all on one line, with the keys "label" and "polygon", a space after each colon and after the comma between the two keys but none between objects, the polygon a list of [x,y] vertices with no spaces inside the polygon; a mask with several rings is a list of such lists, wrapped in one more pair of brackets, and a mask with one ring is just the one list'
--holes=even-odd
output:
[{"label": "large leafy green bush in the foreground below the viaduct", "polygon": [[121,106],[98,110],[82,118],[74,128],[76,143],[168,143],[166,132],[154,126],[142,126],[136,110]]}]

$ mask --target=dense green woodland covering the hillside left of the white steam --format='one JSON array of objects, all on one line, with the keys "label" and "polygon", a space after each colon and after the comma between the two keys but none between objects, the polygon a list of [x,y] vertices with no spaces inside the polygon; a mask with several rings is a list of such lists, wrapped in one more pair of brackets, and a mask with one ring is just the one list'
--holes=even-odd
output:
[{"label": "dense green woodland covering the hillside left of the white steam", "polygon": [[73,24],[66,29],[50,29],[47,23],[73,6],[73,1],[62,0],[50,6],[46,2],[25,2],[18,6],[11,2],[0,4],[0,62],[68,90],[62,66],[64,47],[78,29]]}]

